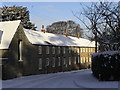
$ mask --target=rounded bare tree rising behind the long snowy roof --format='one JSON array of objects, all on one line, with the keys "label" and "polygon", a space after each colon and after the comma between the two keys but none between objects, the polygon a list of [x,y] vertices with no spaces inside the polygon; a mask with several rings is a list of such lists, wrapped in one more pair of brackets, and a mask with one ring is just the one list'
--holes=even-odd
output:
[{"label": "rounded bare tree rising behind the long snowy roof", "polygon": [[68,36],[82,37],[83,30],[79,24],[74,21],[58,21],[54,22],[52,25],[47,26],[47,32],[55,34],[67,34]]}]

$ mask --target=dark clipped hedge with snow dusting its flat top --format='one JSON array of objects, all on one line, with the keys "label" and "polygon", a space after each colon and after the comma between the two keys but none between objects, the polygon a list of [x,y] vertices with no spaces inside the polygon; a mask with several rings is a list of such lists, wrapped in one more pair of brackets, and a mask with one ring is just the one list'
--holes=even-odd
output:
[{"label": "dark clipped hedge with snow dusting its flat top", "polygon": [[120,80],[120,51],[93,54],[92,72],[99,80]]}]

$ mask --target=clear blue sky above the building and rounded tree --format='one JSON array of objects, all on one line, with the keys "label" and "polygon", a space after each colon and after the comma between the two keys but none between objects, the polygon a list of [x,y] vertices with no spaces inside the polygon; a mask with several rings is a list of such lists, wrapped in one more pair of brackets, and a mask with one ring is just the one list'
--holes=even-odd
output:
[{"label": "clear blue sky above the building and rounded tree", "polygon": [[[91,2],[81,3],[88,6]],[[47,26],[53,22],[68,20],[73,20],[82,26],[72,13],[72,11],[76,13],[82,10],[80,2],[2,2],[1,7],[13,5],[27,7],[30,11],[30,20],[38,30],[42,25]]]}]

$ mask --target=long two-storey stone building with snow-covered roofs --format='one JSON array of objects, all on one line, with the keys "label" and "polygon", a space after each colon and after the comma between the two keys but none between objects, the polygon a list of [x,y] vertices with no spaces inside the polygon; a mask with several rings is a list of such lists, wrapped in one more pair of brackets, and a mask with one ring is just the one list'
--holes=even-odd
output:
[{"label": "long two-storey stone building with snow-covered roofs", "polygon": [[95,42],[24,29],[20,20],[0,22],[2,79],[91,67]]}]

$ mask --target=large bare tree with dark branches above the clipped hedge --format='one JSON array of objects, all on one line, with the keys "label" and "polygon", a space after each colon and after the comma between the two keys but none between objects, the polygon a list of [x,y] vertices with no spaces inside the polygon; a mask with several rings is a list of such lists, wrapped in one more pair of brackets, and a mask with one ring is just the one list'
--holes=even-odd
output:
[{"label": "large bare tree with dark branches above the clipped hedge", "polygon": [[[120,3],[92,3],[91,6],[83,6],[83,12],[79,15],[73,14],[92,31],[100,51],[120,50]],[[85,16],[90,23],[84,22],[81,16]]]}]

